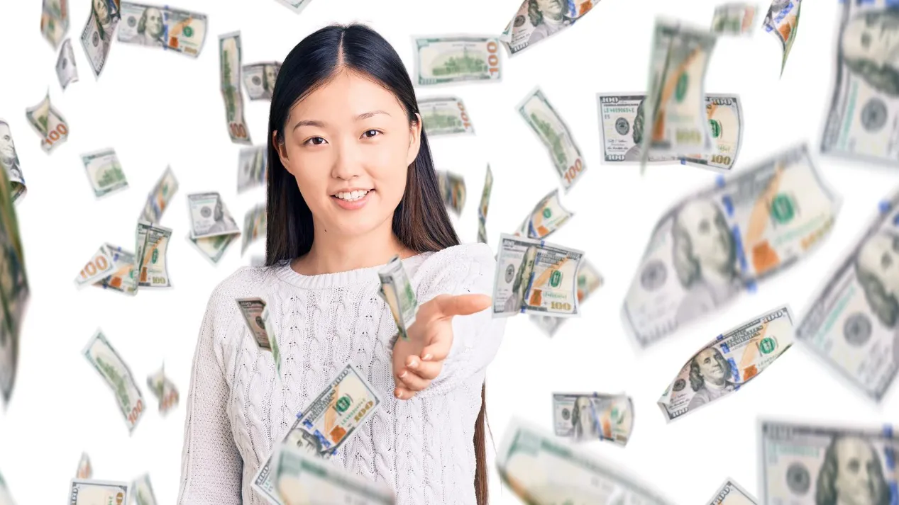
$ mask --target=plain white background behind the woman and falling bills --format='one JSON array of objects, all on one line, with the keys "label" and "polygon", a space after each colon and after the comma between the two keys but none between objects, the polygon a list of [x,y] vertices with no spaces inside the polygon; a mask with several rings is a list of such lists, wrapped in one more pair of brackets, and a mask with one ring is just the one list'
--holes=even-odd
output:
[{"label": "plain white background behind the woman and falling bills", "polygon": [[[412,35],[498,34],[520,0],[313,0],[295,14],[274,0],[179,0],[176,7],[206,13],[209,32],[200,57],[114,43],[94,79],[80,34],[87,0],[70,0],[72,38],[80,82],[60,89],[57,53],[40,35],[40,1],[0,5],[0,118],[12,126],[28,194],[17,205],[31,302],[22,329],[19,371],[10,405],[0,413],[0,472],[22,504],[62,503],[81,452],[94,477],[130,481],[149,472],[161,504],[174,503],[191,359],[209,293],[252,254],[232,244],[218,266],[185,239],[186,195],[218,191],[238,222],[264,201],[264,189],[236,194],[237,153],[225,125],[218,89],[218,35],[241,30],[244,63],[281,60],[312,31],[331,22],[367,22],[384,35],[413,72]],[[476,206],[485,166],[494,172],[487,219],[489,241],[514,231],[531,207],[560,186],[548,154],[515,110],[535,85],[571,127],[587,170],[563,202],[575,213],[551,241],[583,249],[606,284],[583,304],[583,317],[547,338],[525,316],[509,321],[499,355],[488,370],[488,416],[499,444],[512,416],[547,430],[554,391],[625,391],[633,396],[636,426],[627,448],[587,446],[628,468],[677,503],[701,503],[730,475],[757,493],[756,424],[760,416],[819,422],[879,424],[899,419],[899,393],[874,405],[846,387],[802,348],[795,348],[761,379],[715,405],[666,424],[655,405],[684,361],[723,330],[780,303],[801,316],[814,292],[873,217],[877,203],[899,187],[899,171],[861,162],[816,157],[824,177],[843,196],[830,238],[814,254],[758,292],[699,324],[637,353],[622,330],[619,309],[654,223],[690,191],[712,184],[714,173],[681,165],[601,164],[596,93],[643,91],[656,14],[701,26],[711,22],[710,0],[603,0],[574,27],[525,52],[503,54],[503,82],[419,88],[419,98],[456,94],[465,101],[476,136],[432,138],[438,169],[467,180],[467,204],[457,230],[476,239]],[[765,11],[767,5],[764,6]],[[708,92],[743,100],[743,146],[736,170],[790,145],[817,142],[832,86],[839,5],[806,2],[786,70],[779,41],[759,29],[752,37],[721,38],[711,57]],[[47,155],[25,119],[25,108],[49,89],[67,119],[67,144]],[[269,104],[246,101],[252,138],[262,144]],[[129,188],[93,196],[80,154],[114,147]],[[180,182],[164,226],[174,230],[168,269],[174,288],[141,290],[134,298],[86,287],[73,279],[104,242],[134,243],[135,222],[147,193],[166,165]],[[81,355],[102,328],[149,402],[129,436],[109,387]],[[161,417],[146,387],[165,362],[182,405]],[[489,444],[488,444],[489,446]],[[501,488],[491,458],[494,503],[517,503]]]}]

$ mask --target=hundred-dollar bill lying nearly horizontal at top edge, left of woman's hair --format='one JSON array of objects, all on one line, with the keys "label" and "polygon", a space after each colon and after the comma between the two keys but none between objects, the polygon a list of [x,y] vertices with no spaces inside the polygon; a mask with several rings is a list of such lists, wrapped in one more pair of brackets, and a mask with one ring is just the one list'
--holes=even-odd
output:
[{"label": "hundred-dollar bill lying nearly horizontal at top edge, left of woman's hair", "polygon": [[206,40],[206,15],[166,5],[121,3],[119,41],[151,48],[171,49],[199,57]]}]

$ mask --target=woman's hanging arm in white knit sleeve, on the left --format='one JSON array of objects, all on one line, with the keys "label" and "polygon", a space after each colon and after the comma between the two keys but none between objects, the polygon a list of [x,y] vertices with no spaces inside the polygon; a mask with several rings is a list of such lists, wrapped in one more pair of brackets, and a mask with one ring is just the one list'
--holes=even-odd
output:
[{"label": "woman's hanging arm in white knit sleeve, on the left", "polygon": [[184,422],[179,505],[240,505],[243,459],[227,418],[228,385],[222,366],[216,314],[227,303],[216,288],[209,297],[191,370]]}]

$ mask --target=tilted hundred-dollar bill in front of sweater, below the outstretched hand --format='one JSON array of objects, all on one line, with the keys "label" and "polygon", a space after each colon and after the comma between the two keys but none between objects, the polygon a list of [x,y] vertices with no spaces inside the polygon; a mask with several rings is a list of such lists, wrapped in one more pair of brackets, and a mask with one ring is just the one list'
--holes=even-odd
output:
[{"label": "tilted hundred-dollar bill in front of sweater, below the outstretched hand", "polygon": [[[310,456],[329,458],[350,440],[356,428],[368,421],[380,403],[374,389],[362,379],[352,362],[348,362],[308,408],[297,414],[297,421],[281,445],[300,449]],[[256,472],[252,486],[271,503],[289,505],[280,501],[275,491],[274,452]]]}]

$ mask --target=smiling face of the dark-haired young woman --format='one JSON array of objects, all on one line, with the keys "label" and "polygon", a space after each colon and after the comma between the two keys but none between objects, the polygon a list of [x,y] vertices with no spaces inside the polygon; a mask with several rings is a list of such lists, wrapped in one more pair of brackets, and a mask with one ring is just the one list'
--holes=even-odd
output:
[{"label": "smiling face of the dark-haired young woman", "polygon": [[410,126],[393,93],[357,74],[342,72],[300,100],[279,155],[316,235],[359,235],[392,219],[420,135],[421,118]]}]

